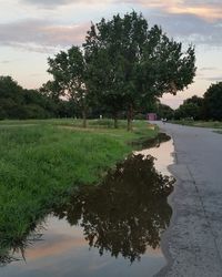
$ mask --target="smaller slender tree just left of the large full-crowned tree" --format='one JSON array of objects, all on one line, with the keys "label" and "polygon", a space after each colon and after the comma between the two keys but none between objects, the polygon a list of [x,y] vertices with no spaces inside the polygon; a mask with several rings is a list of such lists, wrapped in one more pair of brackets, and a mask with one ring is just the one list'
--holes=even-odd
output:
[{"label": "smaller slender tree just left of the large full-crowned tree", "polygon": [[72,47],[67,52],[61,51],[54,59],[48,59],[48,72],[53,81],[48,83],[54,95],[67,96],[73,101],[82,112],[83,127],[87,126],[88,90],[84,55],[79,47]]}]

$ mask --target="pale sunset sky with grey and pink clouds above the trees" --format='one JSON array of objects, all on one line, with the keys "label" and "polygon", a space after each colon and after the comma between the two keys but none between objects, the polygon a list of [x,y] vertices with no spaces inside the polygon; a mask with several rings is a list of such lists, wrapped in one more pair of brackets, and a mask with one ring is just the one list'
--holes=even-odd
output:
[{"label": "pale sunset sky with grey and pink clouds above the trees", "polygon": [[47,59],[81,45],[91,22],[132,10],[184,49],[195,45],[193,83],[175,96],[164,94],[162,103],[175,109],[222,81],[221,0],[0,0],[0,75],[12,76],[26,89],[38,89],[51,79]]}]

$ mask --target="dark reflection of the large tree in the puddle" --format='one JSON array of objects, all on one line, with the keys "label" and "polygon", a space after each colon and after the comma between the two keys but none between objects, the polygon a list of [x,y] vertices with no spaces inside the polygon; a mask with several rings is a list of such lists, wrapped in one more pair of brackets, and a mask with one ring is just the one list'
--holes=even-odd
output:
[{"label": "dark reflection of the large tree in the puddle", "polygon": [[133,261],[148,246],[159,247],[171,217],[167,196],[172,184],[172,178],[155,171],[153,157],[132,155],[100,186],[79,187],[54,214],[71,225],[80,224],[100,255],[110,252]]}]

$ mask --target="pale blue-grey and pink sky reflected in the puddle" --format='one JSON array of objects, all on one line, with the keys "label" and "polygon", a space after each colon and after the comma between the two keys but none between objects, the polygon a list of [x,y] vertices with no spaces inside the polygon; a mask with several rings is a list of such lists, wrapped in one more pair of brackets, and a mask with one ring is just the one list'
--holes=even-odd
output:
[{"label": "pale blue-grey and pink sky reflected in the puddle", "polygon": [[[169,141],[140,153],[157,157],[157,170],[169,174],[167,166],[173,163],[172,152],[172,141]],[[1,277],[149,277],[165,265],[160,248],[147,247],[140,261],[132,264],[121,255],[118,258],[111,257],[109,252],[100,256],[95,247],[89,247],[82,236],[82,227],[70,226],[65,219],[59,220],[54,216],[47,218],[42,233],[42,240],[34,242],[26,249],[26,261],[13,261],[0,268]]]}]

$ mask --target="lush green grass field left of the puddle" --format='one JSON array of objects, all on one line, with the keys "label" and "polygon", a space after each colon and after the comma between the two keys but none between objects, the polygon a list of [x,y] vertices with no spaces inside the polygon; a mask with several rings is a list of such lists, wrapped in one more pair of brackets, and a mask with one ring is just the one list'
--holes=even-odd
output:
[{"label": "lush green grass field left of the puddle", "polygon": [[97,184],[105,171],[132,151],[131,142],[157,135],[145,122],[75,120],[0,122],[0,243],[14,245],[63,201],[75,185]]}]

